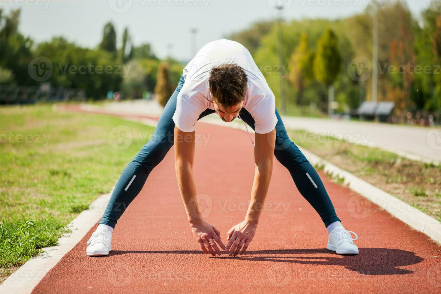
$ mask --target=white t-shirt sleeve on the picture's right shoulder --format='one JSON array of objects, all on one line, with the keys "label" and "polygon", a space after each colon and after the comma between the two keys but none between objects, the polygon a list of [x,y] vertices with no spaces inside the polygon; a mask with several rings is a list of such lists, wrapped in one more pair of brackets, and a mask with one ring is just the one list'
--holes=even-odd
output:
[{"label": "white t-shirt sleeve on the picture's right shoulder", "polygon": [[254,119],[254,128],[258,134],[267,134],[277,124],[276,98],[268,85],[254,90],[254,105],[248,110]]}]

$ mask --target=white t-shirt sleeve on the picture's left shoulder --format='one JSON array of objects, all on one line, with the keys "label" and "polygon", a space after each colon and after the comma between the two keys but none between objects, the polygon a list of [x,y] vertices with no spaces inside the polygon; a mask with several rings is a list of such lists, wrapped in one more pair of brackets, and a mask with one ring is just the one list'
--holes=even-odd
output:
[{"label": "white t-shirt sleeve on the picture's left shoulder", "polygon": [[[205,103],[201,100],[202,94],[198,93],[188,81],[184,83],[176,100],[176,111],[173,121],[179,130],[190,133],[196,129],[196,121],[201,113],[206,109]],[[202,99],[205,99],[202,97]]]}]

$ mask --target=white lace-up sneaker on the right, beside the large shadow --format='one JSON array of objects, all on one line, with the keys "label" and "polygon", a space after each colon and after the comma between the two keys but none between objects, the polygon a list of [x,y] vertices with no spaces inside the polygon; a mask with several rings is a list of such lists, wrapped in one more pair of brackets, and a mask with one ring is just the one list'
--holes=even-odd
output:
[{"label": "white lace-up sneaker on the right, beside the large shadow", "polygon": [[[355,235],[352,238],[351,233]],[[358,247],[353,240],[358,236],[352,231],[345,231],[344,227],[338,226],[329,233],[328,250],[335,251],[337,254],[358,254]]]}]

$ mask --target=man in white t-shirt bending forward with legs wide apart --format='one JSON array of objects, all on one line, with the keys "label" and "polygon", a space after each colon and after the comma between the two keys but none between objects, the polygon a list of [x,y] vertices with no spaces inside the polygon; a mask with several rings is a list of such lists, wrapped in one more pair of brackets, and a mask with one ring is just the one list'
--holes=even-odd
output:
[{"label": "man in white t-shirt bending forward with legs wide apart", "polygon": [[[116,183],[104,216],[87,242],[87,255],[107,255],[112,250],[116,222],[173,144],[179,190],[191,231],[203,252],[213,256],[221,255],[220,248],[230,256],[245,252],[258,225],[261,209],[256,208],[265,202],[274,155],[288,169],[299,192],[325,223],[329,232],[327,248],[338,254],[358,254],[353,242],[356,238],[351,237],[353,232],[346,231],[341,225],[320,177],[288,138],[275,105],[274,95],[247,48],[225,39],[202,47],[184,68],[152,139],[127,165]],[[245,220],[228,231],[227,246],[221,241],[219,230],[202,219],[195,199],[195,124],[198,119],[214,112],[224,122],[239,117],[255,130],[255,143],[251,140],[256,167],[251,201]]]}]

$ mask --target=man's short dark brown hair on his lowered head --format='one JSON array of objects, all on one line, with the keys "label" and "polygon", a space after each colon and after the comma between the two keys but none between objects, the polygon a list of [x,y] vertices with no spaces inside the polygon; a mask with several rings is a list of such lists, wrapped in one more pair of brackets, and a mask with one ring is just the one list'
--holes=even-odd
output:
[{"label": "man's short dark brown hair on his lowered head", "polygon": [[247,74],[236,63],[224,63],[213,67],[208,84],[213,102],[222,107],[235,106],[247,95]]}]

